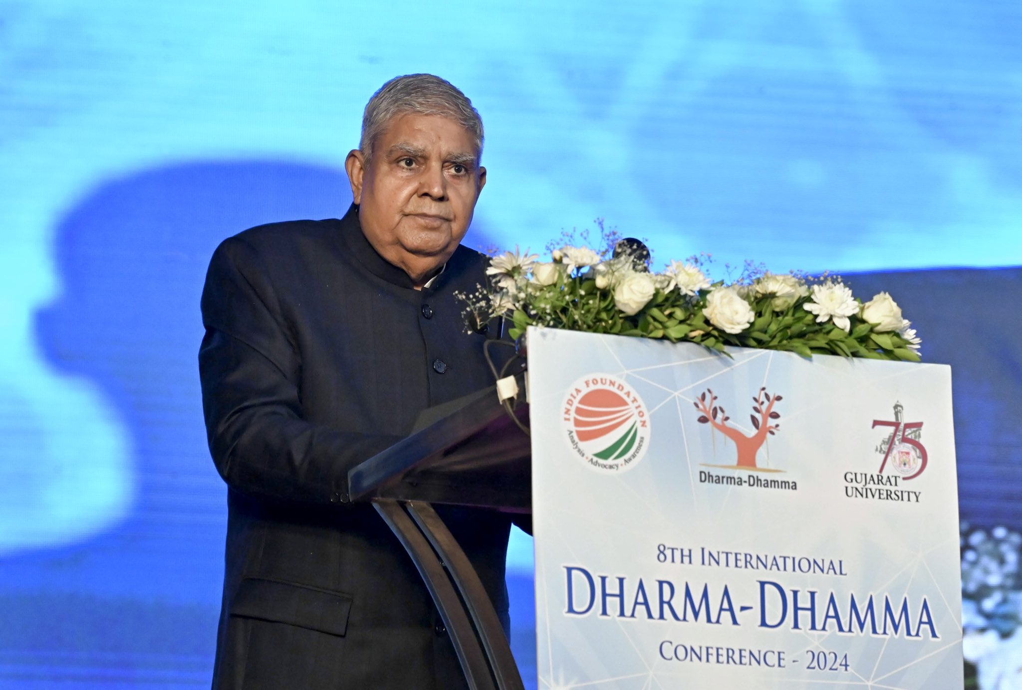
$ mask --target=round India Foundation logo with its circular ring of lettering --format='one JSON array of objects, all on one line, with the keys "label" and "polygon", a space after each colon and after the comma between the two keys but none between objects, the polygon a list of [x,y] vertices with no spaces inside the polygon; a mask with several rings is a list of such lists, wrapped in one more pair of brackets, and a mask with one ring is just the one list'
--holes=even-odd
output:
[{"label": "round India Foundation logo with its circular ring of lettering", "polygon": [[649,448],[649,410],[620,377],[590,374],[564,396],[561,428],[571,449],[590,466],[622,472]]}]

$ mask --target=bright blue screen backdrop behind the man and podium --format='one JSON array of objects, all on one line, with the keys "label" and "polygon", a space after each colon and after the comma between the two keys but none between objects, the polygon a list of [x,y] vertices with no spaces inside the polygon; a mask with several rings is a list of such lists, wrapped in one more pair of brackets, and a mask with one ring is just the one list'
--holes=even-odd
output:
[{"label": "bright blue screen backdrop behind the man and podium", "polygon": [[[993,687],[1022,666],[1020,35],[997,0],[0,0],[0,687],[208,684],[205,265],[342,213],[362,107],[411,71],[483,116],[471,246],[603,217],[657,262],[894,295],[955,367],[967,656]],[[530,558],[518,535],[526,674]]]}]

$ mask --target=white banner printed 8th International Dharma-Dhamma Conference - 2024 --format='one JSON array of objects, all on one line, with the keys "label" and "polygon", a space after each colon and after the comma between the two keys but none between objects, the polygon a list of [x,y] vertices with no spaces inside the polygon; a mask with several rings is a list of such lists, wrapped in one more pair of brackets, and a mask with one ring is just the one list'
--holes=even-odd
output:
[{"label": "white banner printed 8th International Dharma-Dhamma Conference - 2024", "polygon": [[529,329],[540,688],[963,687],[950,369]]}]

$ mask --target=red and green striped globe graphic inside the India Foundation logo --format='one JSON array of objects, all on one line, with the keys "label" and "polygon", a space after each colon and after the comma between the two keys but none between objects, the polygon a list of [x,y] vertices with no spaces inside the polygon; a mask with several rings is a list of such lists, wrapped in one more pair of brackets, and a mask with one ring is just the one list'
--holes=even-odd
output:
[{"label": "red and green striped globe graphic inside the India Foundation logo", "polygon": [[623,396],[604,389],[589,391],[574,406],[572,420],[575,438],[601,460],[617,460],[635,447],[639,422],[632,404]]}]

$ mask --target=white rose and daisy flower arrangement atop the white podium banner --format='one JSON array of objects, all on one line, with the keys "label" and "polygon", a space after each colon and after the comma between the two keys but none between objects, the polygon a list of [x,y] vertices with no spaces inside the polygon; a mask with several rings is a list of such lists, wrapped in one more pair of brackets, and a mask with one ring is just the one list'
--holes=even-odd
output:
[{"label": "white rose and daisy flower arrangement atop the white podium banner", "polygon": [[733,282],[712,281],[705,254],[651,273],[637,240],[604,232],[600,251],[576,246],[571,235],[564,240],[548,247],[549,261],[518,249],[494,255],[490,285],[461,295],[469,328],[504,316],[513,322],[512,338],[543,326],[721,352],[734,345],[804,357],[920,360],[920,339],[886,292],[863,303],[839,277],[775,275],[750,263]]}]

